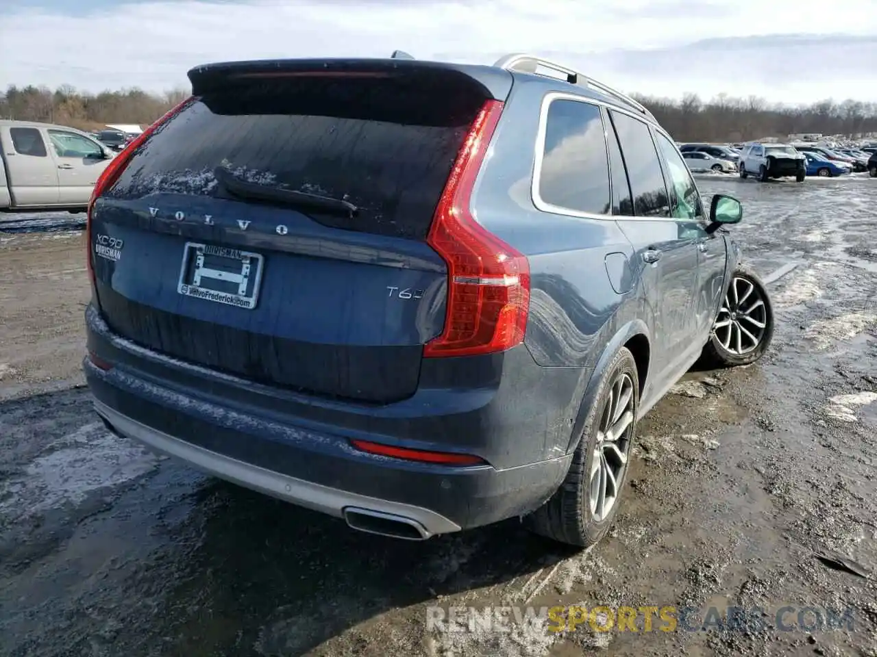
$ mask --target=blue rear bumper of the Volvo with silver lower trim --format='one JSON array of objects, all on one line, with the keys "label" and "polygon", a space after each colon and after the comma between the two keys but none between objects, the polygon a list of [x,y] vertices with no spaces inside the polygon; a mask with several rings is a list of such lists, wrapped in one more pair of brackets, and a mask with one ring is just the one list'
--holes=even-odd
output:
[{"label": "blue rear bumper of the Volvo with silver lower trim", "polygon": [[[93,309],[87,316],[89,350],[112,366],[98,368],[86,358],[83,369],[96,412],[113,431],[198,470],[318,512],[344,517],[360,510],[404,519],[427,538],[531,512],[553,494],[569,467],[565,450],[511,467],[454,467],[367,454],[354,449],[350,439],[397,444],[398,436],[369,434],[369,425],[381,423],[367,416],[353,430],[324,421],[331,415],[316,422],[289,413],[288,406],[295,405],[255,406],[233,399],[225,394],[225,375],[192,385],[194,379],[174,376],[172,365],[155,366],[142,348],[131,345],[120,357],[124,341],[106,335]],[[503,407],[514,418],[513,403],[503,400]],[[400,431],[419,436],[427,425],[418,420],[400,418]],[[487,440],[490,444],[479,451],[498,453],[503,445],[493,444],[489,428],[474,424],[467,442]],[[513,449],[517,438],[508,436],[506,448]]]}]

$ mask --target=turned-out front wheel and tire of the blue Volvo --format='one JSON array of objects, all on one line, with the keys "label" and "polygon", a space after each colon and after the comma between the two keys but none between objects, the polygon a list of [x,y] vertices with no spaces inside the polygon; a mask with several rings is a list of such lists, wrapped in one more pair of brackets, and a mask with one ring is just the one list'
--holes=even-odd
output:
[{"label": "turned-out front wheel and tire of the blue Volvo", "polygon": [[[756,300],[752,300],[753,294]],[[760,306],[757,305],[759,300]],[[741,307],[744,313],[740,312]],[[759,327],[759,324],[763,326]],[[744,331],[738,330],[740,326]],[[764,356],[773,339],[774,306],[770,295],[757,273],[740,266],[731,278],[731,285],[709,331],[703,356],[709,363],[722,367],[748,365]]]}]

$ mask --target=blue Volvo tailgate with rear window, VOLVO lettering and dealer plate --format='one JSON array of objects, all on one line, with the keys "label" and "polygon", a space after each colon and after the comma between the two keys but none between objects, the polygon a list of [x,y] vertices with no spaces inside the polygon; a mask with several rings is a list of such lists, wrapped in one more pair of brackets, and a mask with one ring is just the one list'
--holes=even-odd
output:
[{"label": "blue Volvo tailgate with rear window, VOLVO lettering and dealer plate", "polygon": [[304,393],[413,394],[445,321],[446,265],[425,239],[488,91],[409,69],[193,81],[96,202],[111,329]]}]

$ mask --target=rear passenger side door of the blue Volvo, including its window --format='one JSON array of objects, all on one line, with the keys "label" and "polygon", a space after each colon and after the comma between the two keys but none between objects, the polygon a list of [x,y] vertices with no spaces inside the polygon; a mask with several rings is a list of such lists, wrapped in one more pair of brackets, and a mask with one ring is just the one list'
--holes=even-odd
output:
[{"label": "rear passenger side door of the blue Volvo, including its window", "polygon": [[[667,184],[649,126],[609,110],[630,180],[634,216],[618,216],[618,225],[641,263],[646,300],[652,307],[655,378],[675,372],[690,351],[696,327],[697,246],[671,215]],[[612,135],[610,134],[610,138]],[[611,146],[611,139],[610,139]],[[656,384],[660,385],[660,384]]]}]

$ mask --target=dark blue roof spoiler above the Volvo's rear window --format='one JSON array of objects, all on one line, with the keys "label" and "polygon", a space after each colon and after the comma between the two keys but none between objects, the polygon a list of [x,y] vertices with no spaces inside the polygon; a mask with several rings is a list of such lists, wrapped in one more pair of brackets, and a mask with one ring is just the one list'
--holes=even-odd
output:
[{"label": "dark blue roof spoiler above the Volvo's rear window", "polygon": [[[253,60],[205,64],[189,70],[192,94],[203,95],[248,80],[298,77],[387,77],[428,85],[431,81],[459,84],[485,100],[504,102],[511,91],[512,75],[497,67],[449,64],[408,59],[394,53],[389,59]],[[410,55],[408,55],[410,57]]]}]

